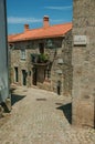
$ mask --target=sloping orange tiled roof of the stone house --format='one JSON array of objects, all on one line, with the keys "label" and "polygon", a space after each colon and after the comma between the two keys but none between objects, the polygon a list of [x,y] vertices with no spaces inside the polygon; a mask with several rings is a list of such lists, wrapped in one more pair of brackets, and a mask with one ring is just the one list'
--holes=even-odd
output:
[{"label": "sloping orange tiled roof of the stone house", "polygon": [[48,28],[30,29],[23,33],[12,34],[8,37],[9,42],[44,39],[44,38],[56,38],[63,37],[67,31],[72,29],[72,23],[63,23],[50,25]]}]

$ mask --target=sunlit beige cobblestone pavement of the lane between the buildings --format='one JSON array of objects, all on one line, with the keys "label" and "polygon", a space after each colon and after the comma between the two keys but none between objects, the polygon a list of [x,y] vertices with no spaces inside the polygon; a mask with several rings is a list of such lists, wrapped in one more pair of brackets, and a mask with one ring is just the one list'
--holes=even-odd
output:
[{"label": "sunlit beige cobblestone pavement of the lane between the buildings", "polygon": [[12,112],[0,120],[0,144],[95,144],[94,130],[71,126],[62,96],[19,88],[12,104]]}]

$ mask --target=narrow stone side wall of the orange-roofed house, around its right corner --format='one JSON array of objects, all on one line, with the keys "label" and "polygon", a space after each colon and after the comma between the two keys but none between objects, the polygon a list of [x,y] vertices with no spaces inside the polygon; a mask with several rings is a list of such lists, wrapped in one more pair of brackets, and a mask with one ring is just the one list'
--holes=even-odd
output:
[{"label": "narrow stone side wall of the orange-roofed house, around its right corner", "polygon": [[66,96],[72,95],[72,31],[70,31],[63,42],[63,94]]}]

